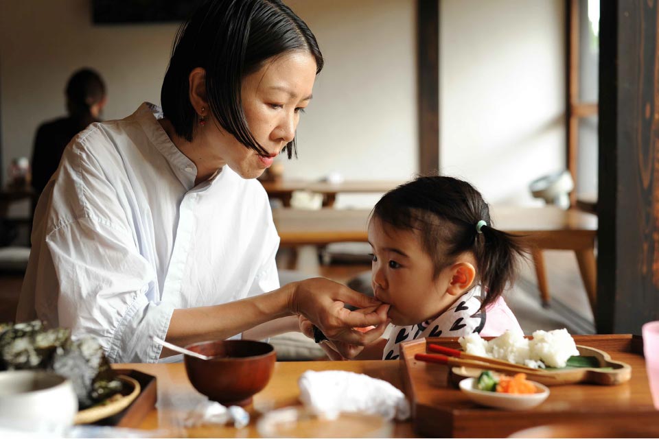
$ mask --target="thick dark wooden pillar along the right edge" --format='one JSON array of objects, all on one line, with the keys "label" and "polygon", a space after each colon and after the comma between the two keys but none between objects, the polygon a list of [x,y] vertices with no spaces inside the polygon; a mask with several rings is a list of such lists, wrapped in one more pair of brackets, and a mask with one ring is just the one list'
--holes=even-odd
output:
[{"label": "thick dark wooden pillar along the right edge", "polygon": [[599,333],[659,320],[659,8],[601,2]]}]

